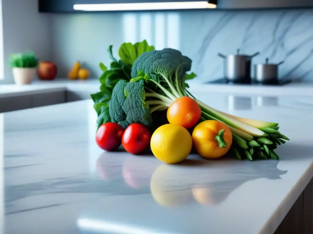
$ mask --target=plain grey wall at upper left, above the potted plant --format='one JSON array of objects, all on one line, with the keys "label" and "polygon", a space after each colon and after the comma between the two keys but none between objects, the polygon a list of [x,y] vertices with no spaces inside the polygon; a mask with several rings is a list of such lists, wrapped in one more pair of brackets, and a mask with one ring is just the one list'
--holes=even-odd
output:
[{"label": "plain grey wall at upper left, above the potted plant", "polygon": [[40,59],[50,60],[52,50],[51,17],[38,13],[38,0],[2,0],[2,16],[4,76],[0,74],[0,84],[13,83],[8,66],[11,53],[31,50]]}]

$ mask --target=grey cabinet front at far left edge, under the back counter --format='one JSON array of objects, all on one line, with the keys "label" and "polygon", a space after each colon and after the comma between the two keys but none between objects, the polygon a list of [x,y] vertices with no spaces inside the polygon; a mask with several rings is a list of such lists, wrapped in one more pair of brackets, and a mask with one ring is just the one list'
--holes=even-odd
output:
[{"label": "grey cabinet front at far left edge, under the back counter", "polygon": [[31,108],[31,96],[4,97],[0,99],[0,113]]}]

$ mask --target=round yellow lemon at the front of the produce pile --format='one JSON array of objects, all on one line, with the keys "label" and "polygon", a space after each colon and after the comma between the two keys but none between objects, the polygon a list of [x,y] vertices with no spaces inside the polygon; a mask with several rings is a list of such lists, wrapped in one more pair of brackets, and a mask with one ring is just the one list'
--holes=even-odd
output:
[{"label": "round yellow lemon at the front of the produce pile", "polygon": [[152,153],[164,163],[179,163],[191,152],[192,137],[184,127],[165,124],[152,134],[150,146]]}]

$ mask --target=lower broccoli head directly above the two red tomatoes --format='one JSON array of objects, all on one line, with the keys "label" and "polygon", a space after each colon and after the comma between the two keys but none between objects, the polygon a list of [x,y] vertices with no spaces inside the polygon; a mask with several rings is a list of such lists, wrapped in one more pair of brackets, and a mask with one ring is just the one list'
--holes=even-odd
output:
[{"label": "lower broccoli head directly above the two red tomatoes", "polygon": [[152,118],[145,101],[144,80],[120,80],[113,89],[109,112],[111,121],[124,129],[131,123],[149,126]]}]

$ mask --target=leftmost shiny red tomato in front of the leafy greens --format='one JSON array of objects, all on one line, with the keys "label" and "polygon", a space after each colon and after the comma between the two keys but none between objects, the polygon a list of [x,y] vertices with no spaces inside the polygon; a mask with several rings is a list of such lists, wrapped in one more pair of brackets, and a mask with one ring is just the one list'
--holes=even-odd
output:
[{"label": "leftmost shiny red tomato in front of the leafy greens", "polygon": [[102,124],[96,133],[96,143],[103,150],[116,150],[121,145],[123,132],[124,129],[119,124]]}]

